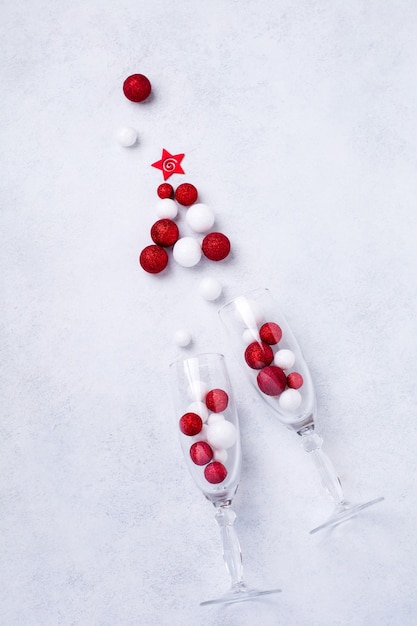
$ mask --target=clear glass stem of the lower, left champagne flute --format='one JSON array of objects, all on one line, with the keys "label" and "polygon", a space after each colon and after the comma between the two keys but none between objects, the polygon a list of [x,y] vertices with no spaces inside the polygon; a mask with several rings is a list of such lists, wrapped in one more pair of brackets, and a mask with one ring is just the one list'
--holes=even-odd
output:
[{"label": "clear glass stem of the lower, left champagne flute", "polygon": [[231,508],[229,501],[217,506],[215,518],[220,527],[223,559],[232,582],[232,589],[238,589],[244,586],[242,551],[233,525],[236,513]]}]

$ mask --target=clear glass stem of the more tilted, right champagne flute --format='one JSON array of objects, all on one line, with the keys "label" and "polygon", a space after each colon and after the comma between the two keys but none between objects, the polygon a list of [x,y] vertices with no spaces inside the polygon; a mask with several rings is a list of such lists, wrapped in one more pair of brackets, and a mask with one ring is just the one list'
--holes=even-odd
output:
[{"label": "clear glass stem of the more tilted, right champagne flute", "polygon": [[347,504],[334,465],[327,454],[322,450],[323,439],[311,428],[306,428],[305,431],[301,431],[300,434],[303,440],[303,448],[311,455],[320,475],[322,485],[336,507]]}]

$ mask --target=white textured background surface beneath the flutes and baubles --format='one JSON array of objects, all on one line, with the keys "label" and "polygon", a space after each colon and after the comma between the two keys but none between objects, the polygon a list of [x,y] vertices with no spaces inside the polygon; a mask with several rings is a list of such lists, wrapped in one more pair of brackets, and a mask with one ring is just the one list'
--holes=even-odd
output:
[{"label": "white textured background surface beneath the flutes and baubles", "polygon": [[[0,17],[2,626],[415,624],[414,0],[4,0]],[[136,72],[143,104],[121,91]],[[163,147],[227,261],[139,267]],[[229,356],[217,306],[257,286],[310,362],[347,495],[386,501],[309,536],[331,503],[229,358],[247,579],[283,593],[200,608],[228,578],[177,441],[171,337]]]}]

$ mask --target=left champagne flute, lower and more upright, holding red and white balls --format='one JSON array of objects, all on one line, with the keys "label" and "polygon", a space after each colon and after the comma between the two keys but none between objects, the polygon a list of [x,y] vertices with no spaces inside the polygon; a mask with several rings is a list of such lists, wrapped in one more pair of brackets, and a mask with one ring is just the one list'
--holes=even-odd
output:
[{"label": "left champagne flute, lower and more upright, holding red and white balls", "polygon": [[231,578],[227,593],[201,605],[278,593],[280,589],[250,589],[243,579],[232,509],[241,468],[239,422],[224,357],[212,353],[174,361],[170,376],[185,461],[197,487],[216,509],[224,563]]}]

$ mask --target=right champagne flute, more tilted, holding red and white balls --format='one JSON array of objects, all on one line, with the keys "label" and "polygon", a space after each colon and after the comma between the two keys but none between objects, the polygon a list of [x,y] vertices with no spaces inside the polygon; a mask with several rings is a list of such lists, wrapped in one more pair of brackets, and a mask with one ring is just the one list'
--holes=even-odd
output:
[{"label": "right champagne flute, more tilted, holding red and white balls", "polygon": [[255,289],[224,305],[220,319],[232,348],[252,384],[275,411],[280,422],[301,436],[333,500],[333,515],[315,533],[355,516],[384,498],[351,504],[344,496],[339,477],[322,450],[315,431],[316,397],[307,363],[291,329],[268,289]]}]

